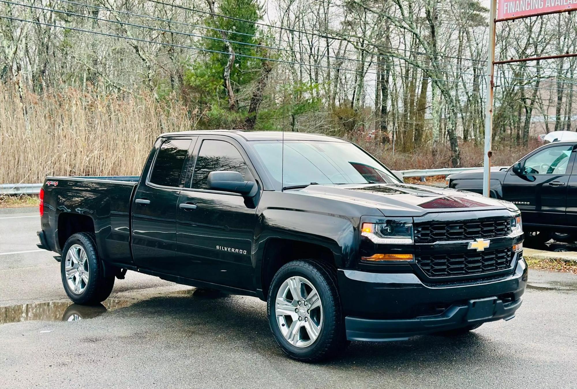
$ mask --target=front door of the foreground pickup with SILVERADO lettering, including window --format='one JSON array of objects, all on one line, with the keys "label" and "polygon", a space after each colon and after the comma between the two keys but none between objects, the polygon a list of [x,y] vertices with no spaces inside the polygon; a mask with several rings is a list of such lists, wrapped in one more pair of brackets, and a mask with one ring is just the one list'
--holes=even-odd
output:
[{"label": "front door of the foreground pickup with SILVERADO lettering, including window", "polygon": [[[238,193],[208,189],[211,171],[238,171],[258,184],[245,151],[226,136],[200,137],[192,180],[177,209],[177,260],[182,276],[243,290],[254,290],[252,242],[256,201]],[[259,187],[260,192],[260,187]]]}]

